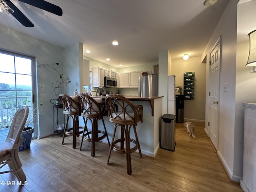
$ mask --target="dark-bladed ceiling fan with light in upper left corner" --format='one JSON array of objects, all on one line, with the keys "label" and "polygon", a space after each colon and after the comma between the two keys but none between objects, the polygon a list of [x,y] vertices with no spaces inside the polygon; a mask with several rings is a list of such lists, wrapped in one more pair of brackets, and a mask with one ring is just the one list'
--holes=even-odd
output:
[{"label": "dark-bladed ceiling fan with light in upper left corner", "polygon": [[[18,0],[26,4],[30,4],[37,8],[46,10],[58,16],[62,16],[62,9],[52,3],[44,0]],[[7,5],[7,6],[6,6]],[[8,8],[9,6],[9,8]],[[6,12],[12,14],[22,25],[25,27],[34,27],[34,24],[10,1],[10,0],[0,0],[0,10],[2,7],[7,7]]]}]

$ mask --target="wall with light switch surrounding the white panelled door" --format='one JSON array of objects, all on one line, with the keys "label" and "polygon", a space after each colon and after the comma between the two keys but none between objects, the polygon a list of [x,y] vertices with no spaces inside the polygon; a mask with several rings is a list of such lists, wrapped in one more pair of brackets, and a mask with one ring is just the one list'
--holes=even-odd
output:
[{"label": "wall with light switch surrounding the white panelled door", "polygon": [[[219,143],[218,156],[224,164],[232,180],[240,181],[242,178],[243,156],[242,135],[235,140],[235,94],[236,94],[236,18],[237,18],[238,0],[232,0],[228,3],[218,25],[216,26],[205,50],[202,54],[202,60],[214,46],[215,42],[221,37],[221,60],[220,60],[220,123],[219,123]],[[209,61],[206,65],[206,80],[209,80]],[[228,83],[228,92],[224,92],[224,83]],[[208,83],[206,92],[209,92]],[[208,103],[206,96],[206,105]],[[208,112],[206,113],[206,122],[208,122]],[[208,126],[206,126],[208,128]],[[235,143],[237,148],[235,148]]]}]

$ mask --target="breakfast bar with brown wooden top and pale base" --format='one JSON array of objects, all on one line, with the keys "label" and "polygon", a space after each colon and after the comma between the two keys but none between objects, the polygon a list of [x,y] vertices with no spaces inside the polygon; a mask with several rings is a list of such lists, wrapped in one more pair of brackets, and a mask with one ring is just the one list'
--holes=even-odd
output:
[{"label": "breakfast bar with brown wooden top and pale base", "polygon": [[[158,149],[160,148],[160,130],[163,96],[154,96],[146,98],[138,96],[125,97],[128,98],[134,105],[143,106],[143,122],[138,122],[138,125],[136,126],[136,131],[138,134],[142,154],[155,157],[158,152]],[[108,116],[104,116],[103,118],[108,132],[108,137],[110,140],[112,140],[114,124],[108,122]],[[98,122],[98,128],[99,130],[103,128],[103,124],[101,121]],[[116,132],[116,134],[120,135],[120,132],[118,131]],[[135,138],[133,131],[130,132],[130,138]],[[107,143],[107,140],[103,141]]]}]

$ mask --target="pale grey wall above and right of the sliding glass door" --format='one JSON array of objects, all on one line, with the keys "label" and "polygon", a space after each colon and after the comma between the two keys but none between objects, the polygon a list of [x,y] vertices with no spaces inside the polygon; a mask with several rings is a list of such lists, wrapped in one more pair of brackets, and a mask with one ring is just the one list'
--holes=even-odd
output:
[{"label": "pale grey wall above and right of the sliding glass door", "polygon": [[[34,56],[41,64],[52,64],[55,62],[63,64],[64,62],[63,48],[32,38],[4,26],[0,26],[0,48]],[[58,70],[62,70],[62,68]],[[56,76],[56,72],[53,70],[38,68],[38,80],[45,86],[44,93],[42,93],[41,87],[38,87],[38,102],[44,103],[43,106],[40,106],[40,112],[44,113],[40,114],[38,137],[46,136],[53,132],[52,104],[50,103],[50,99],[54,98],[54,93],[51,90],[51,82],[54,76]]]}]

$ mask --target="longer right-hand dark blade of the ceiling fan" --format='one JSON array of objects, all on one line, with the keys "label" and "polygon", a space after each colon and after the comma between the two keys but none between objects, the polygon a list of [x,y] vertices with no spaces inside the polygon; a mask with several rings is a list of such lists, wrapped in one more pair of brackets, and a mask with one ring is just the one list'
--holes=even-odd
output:
[{"label": "longer right-hand dark blade of the ceiling fan", "polygon": [[46,10],[58,16],[62,16],[62,9],[59,6],[56,6],[47,1],[44,1],[44,0],[19,0],[19,1],[30,4],[40,9]]}]

